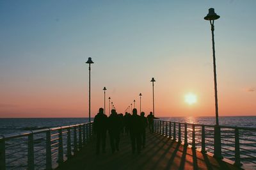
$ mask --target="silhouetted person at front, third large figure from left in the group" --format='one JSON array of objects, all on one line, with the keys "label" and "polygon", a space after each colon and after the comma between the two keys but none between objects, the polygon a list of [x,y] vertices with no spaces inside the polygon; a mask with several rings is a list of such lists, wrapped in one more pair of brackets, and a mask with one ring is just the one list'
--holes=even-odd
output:
[{"label": "silhouetted person at front, third large figure from left in the group", "polygon": [[132,116],[131,121],[129,122],[130,125],[130,134],[131,134],[131,143],[132,143],[132,153],[137,152],[140,153],[141,151],[141,132],[142,132],[142,121],[140,116],[137,114],[137,109],[132,109]]}]

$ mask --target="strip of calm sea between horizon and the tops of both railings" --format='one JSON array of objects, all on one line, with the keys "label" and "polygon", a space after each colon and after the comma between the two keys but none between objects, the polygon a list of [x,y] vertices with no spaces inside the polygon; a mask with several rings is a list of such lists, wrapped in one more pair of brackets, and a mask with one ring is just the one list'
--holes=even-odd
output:
[{"label": "strip of calm sea between horizon and the tops of both railings", "polygon": [[[214,125],[215,117],[169,117],[160,118],[176,122]],[[0,135],[13,134],[40,128],[60,127],[84,123],[88,118],[1,118]],[[220,125],[256,127],[256,116],[221,116]]]}]

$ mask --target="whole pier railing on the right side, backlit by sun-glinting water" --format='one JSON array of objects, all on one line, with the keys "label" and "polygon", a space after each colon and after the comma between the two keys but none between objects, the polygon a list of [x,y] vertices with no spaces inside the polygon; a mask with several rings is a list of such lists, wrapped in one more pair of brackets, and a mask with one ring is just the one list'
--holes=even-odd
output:
[{"label": "whole pier railing on the right side, backlit by sun-glinting water", "polygon": [[218,153],[236,166],[256,168],[256,128],[154,120],[154,131],[203,153]]}]

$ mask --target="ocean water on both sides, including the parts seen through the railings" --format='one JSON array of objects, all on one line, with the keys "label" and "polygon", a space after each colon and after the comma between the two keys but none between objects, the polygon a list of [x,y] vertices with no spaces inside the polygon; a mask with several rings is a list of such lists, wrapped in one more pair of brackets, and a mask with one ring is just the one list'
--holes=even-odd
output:
[{"label": "ocean water on both sides, including the parts seen through the railings", "polygon": [[[92,119],[93,120],[93,119]],[[215,124],[215,117],[163,117],[160,120],[168,120],[168,121],[175,121],[180,123],[195,123],[195,124],[204,124],[204,125],[214,125]],[[42,128],[51,128],[51,127],[61,127],[66,125],[76,125],[79,123],[88,122],[88,118],[1,118],[0,119],[0,135],[10,135],[19,132],[28,132],[29,130],[38,130]],[[220,125],[230,125],[230,126],[237,126],[237,127],[253,127],[256,128],[256,116],[221,116],[219,118]],[[176,135],[178,133],[178,126],[176,123]],[[165,128],[161,128],[164,131]],[[182,132],[184,132],[184,127],[182,127]],[[168,131],[167,131],[168,132]],[[205,145],[208,146],[206,148],[207,151],[213,153],[213,128],[205,127]],[[163,132],[164,133],[164,132]],[[200,146],[200,127],[195,129],[196,134],[196,146]],[[239,133],[240,137],[244,138],[245,140],[241,140],[241,158],[243,158],[243,164],[250,166],[252,169],[256,169],[256,131],[244,131],[241,130]],[[188,143],[191,144],[191,137],[192,137],[192,128],[191,125],[188,125]],[[223,129],[221,132],[221,137],[223,137],[224,141],[221,141],[223,151],[223,156],[230,160],[234,161],[234,129]],[[73,137],[72,137],[73,138]],[[184,136],[181,137],[182,141],[184,141]],[[19,161],[15,161],[12,164],[8,164],[8,169],[15,169],[18,166],[18,169],[26,169],[26,157],[27,155],[27,138],[24,139],[13,139],[12,141],[8,141],[6,143],[6,147],[13,146],[15,143],[20,143],[17,146],[10,147],[6,150],[7,155],[14,153],[22,148],[24,151],[19,152],[19,155],[13,155],[12,157],[8,158],[8,161],[15,160],[16,158],[24,157]],[[25,143],[24,143],[25,142]],[[36,146],[35,150],[41,150],[44,148],[45,143],[45,135],[40,134],[38,136],[38,140],[35,141]],[[43,145],[40,145],[42,143]],[[63,141],[65,143],[65,141]],[[245,145],[242,145],[245,144]],[[17,147],[17,148],[15,148]],[[37,154],[37,155],[36,155]],[[40,157],[40,155],[45,155],[45,150],[37,152],[35,157]],[[246,155],[249,155],[247,157]],[[253,163],[255,162],[255,163]],[[56,161],[52,164],[56,164]],[[23,165],[24,167],[20,167],[19,165]],[[40,169],[39,166],[45,166],[45,157],[41,157],[38,162],[36,162],[36,169]],[[251,169],[249,168],[249,169]],[[44,169],[44,168],[42,168]]]}]

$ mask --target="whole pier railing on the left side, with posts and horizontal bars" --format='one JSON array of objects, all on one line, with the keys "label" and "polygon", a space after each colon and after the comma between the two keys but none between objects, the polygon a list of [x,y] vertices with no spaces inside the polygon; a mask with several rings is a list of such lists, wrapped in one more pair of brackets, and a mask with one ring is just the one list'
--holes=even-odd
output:
[{"label": "whole pier railing on the left side, with posts and horizontal bars", "polygon": [[54,169],[92,137],[92,122],[0,135],[0,169]]}]

